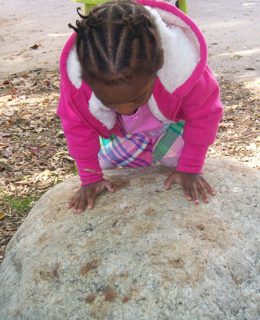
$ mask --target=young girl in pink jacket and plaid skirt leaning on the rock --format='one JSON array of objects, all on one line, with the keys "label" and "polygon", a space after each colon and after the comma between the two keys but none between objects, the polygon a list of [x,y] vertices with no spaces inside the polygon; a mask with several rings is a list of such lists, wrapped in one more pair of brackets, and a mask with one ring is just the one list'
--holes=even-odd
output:
[{"label": "young girl in pink jacket and plaid skirt leaning on the rock", "polygon": [[[79,13],[79,12],[78,12]],[[209,202],[202,176],[222,117],[219,86],[198,27],[175,6],[120,0],[76,21],[61,54],[62,119],[81,187],[68,208],[81,213],[113,184],[102,169],[160,161],[175,168],[187,200]]]}]

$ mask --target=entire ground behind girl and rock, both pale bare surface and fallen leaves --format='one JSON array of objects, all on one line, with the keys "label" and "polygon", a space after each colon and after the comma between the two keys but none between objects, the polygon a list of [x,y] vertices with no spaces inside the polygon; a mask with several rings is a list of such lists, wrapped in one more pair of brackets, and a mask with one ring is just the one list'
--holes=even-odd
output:
[{"label": "entire ground behind girl and rock, both pale bare surface and fallen leaves", "polygon": [[[208,157],[260,169],[260,1],[187,3],[206,38],[224,105]],[[34,202],[77,173],[56,115],[58,60],[77,6],[70,0],[0,0],[0,260]]]}]

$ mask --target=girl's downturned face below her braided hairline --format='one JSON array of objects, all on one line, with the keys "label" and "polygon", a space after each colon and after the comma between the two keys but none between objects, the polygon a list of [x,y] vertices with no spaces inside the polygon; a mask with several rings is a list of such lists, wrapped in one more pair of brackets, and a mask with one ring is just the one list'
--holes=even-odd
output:
[{"label": "girl's downturned face below her braided hairline", "polygon": [[130,116],[147,103],[153,92],[156,76],[152,78],[136,76],[132,84],[109,86],[101,82],[91,82],[90,87],[96,97],[107,108]]}]

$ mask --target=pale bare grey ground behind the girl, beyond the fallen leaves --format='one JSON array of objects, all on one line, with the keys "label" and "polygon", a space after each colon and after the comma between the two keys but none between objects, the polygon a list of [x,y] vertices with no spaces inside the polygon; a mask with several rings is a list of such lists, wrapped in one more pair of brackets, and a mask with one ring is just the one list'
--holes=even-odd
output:
[{"label": "pale bare grey ground behind the girl, beyond the fallen leaves", "polygon": [[[173,3],[173,2],[172,2]],[[260,0],[187,0],[203,31],[214,74],[260,86]],[[33,68],[58,68],[67,27],[78,18],[70,0],[1,0],[0,77]],[[41,44],[37,50],[30,49]],[[258,84],[257,84],[258,83]]]}]

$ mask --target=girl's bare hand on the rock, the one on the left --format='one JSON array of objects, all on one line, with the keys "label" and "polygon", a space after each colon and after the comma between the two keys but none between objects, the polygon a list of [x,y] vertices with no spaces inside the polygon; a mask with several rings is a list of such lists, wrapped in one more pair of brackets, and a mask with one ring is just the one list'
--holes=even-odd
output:
[{"label": "girl's bare hand on the rock, the one on the left", "polygon": [[84,211],[85,206],[88,203],[88,209],[92,209],[95,196],[105,188],[107,188],[110,192],[115,191],[113,183],[108,180],[100,180],[80,187],[78,192],[71,199],[67,208],[70,209],[74,204],[73,212],[81,213]]}]

